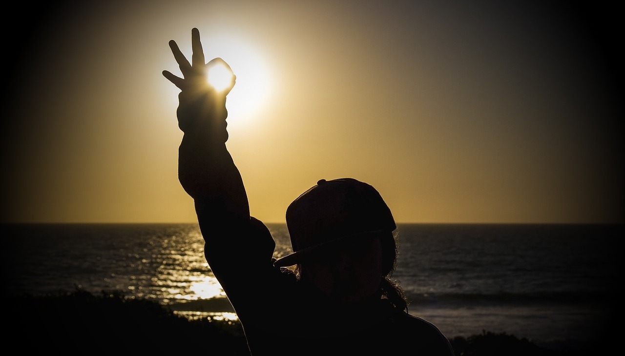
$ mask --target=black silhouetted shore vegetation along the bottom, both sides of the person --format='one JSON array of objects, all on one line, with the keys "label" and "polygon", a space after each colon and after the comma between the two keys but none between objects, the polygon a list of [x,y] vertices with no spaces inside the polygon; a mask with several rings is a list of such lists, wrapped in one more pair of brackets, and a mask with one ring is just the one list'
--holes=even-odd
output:
[{"label": "black silhouetted shore vegetation along the bottom, both sides of the person", "polygon": [[[14,347],[19,354],[249,355],[238,322],[189,320],[157,302],[131,299],[121,292],[26,295],[9,299],[6,305],[5,347]],[[599,342],[576,349],[546,349],[514,335],[486,331],[450,341],[458,356],[577,356],[608,351]]]}]

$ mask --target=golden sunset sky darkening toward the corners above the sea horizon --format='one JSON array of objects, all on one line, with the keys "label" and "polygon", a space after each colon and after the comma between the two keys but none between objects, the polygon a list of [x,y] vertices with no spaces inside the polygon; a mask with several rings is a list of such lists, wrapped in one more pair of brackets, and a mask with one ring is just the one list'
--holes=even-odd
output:
[{"label": "golden sunset sky darkening toward the corners above the sea horizon", "polygon": [[[3,24],[2,222],[196,222],[168,46],[237,76],[227,147],[284,222],[353,177],[397,222],[623,222],[622,21],[601,1],[60,1]],[[619,32],[620,31],[620,32]]]}]

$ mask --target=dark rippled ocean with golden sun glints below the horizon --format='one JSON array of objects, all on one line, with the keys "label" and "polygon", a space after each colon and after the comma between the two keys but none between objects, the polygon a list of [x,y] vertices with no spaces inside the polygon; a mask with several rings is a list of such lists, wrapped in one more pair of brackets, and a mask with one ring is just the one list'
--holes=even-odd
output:
[{"label": "dark rippled ocean with golden sun glints below the horizon", "polygon": [[[275,257],[291,251],[267,224]],[[236,319],[197,224],[1,225],[6,295],[83,289],[153,299],[190,318]],[[622,225],[398,224],[394,279],[409,312],[447,337],[484,331],[572,345],[615,330]],[[236,251],[232,251],[236,254]],[[257,291],[259,294],[263,290]],[[279,315],[267,315],[279,317]]]}]

